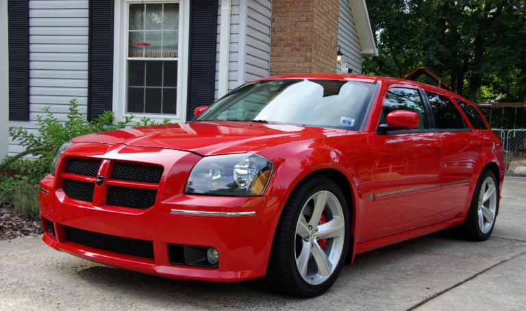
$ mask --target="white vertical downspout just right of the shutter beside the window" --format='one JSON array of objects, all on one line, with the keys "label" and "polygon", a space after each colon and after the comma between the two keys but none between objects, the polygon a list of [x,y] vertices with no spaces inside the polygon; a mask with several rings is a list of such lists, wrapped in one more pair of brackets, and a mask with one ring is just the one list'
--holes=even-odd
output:
[{"label": "white vertical downspout just right of the shutter beside the window", "polygon": [[219,38],[218,98],[228,92],[228,65],[230,54],[230,0],[221,0],[221,36]]}]

